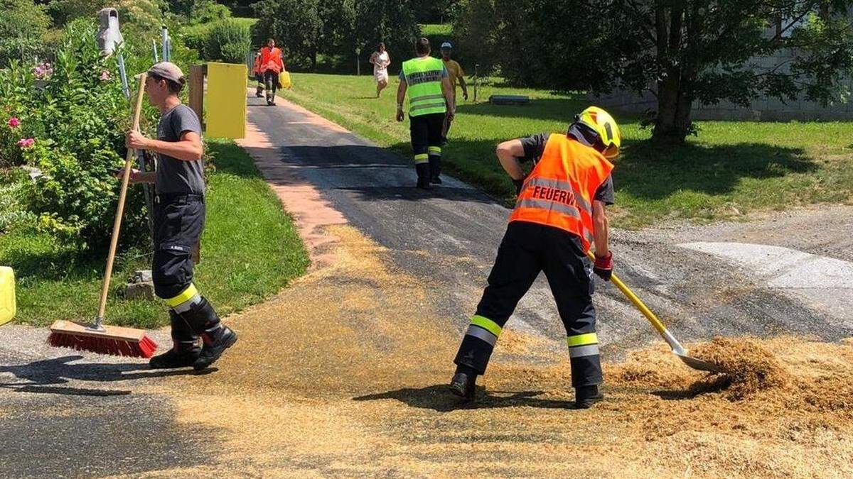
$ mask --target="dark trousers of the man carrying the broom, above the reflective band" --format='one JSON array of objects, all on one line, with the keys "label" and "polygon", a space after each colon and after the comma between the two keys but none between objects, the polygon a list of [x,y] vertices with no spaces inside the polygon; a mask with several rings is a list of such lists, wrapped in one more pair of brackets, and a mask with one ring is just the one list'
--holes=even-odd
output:
[{"label": "dark trousers of the man carrying the broom, above the reflective band", "polygon": [[193,282],[192,249],[205,227],[205,200],[200,194],[154,197],[154,293],[177,297]]}]

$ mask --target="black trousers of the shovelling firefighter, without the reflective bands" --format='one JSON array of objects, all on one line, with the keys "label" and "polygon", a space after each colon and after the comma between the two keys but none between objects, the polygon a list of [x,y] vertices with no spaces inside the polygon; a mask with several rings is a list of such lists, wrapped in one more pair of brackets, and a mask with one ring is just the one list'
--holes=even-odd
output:
[{"label": "black trousers of the shovelling firefighter, without the reflective bands", "polygon": [[[592,294],[592,264],[572,234],[531,222],[510,222],[489,274],[489,286],[477,306],[477,315],[503,327],[521,297],[540,272],[545,273],[557,310],[569,337],[595,332]],[[500,340],[498,340],[500,342]],[[462,338],[457,365],[472,367],[480,374],[494,347],[473,335]],[[572,386],[601,384],[601,356],[571,359]]]}]

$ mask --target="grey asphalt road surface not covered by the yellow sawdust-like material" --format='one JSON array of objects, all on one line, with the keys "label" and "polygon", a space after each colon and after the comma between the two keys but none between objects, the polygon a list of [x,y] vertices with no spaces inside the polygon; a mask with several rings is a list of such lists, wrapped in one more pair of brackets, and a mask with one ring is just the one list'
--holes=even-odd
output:
[{"label": "grey asphalt road surface not covered by the yellow sawdust-like material", "polygon": [[[269,136],[266,153],[386,248],[396,268],[422,281],[431,309],[452,320],[457,329],[452,336],[458,337],[485,286],[508,210],[449,177],[444,185],[421,192],[414,188],[409,159],[286,102],[265,107],[250,97],[249,105],[249,121]],[[844,254],[849,248],[824,247],[825,238],[778,234],[786,224],[794,225],[794,232],[826,220],[800,214],[754,224],[617,230],[612,243],[618,273],[683,341],[783,332],[836,340],[853,336],[853,313],[821,303],[833,303],[839,288],[849,294],[845,279],[827,288],[816,281],[780,282],[778,269],[740,262],[742,250],[725,245],[740,241],[808,251],[812,273],[827,264],[822,257],[848,268],[853,258]],[[853,214],[844,210],[833,224],[833,234],[842,238],[853,226]],[[763,233],[749,233],[756,231]],[[794,272],[786,278],[797,276],[798,270],[791,269],[796,265],[785,268]],[[608,359],[658,339],[611,286],[598,285],[595,303]],[[411,320],[416,327],[417,318]],[[562,352],[565,333],[543,278],[508,327],[541,337],[543,347]],[[45,330],[22,326],[0,329],[0,476],[136,475],[211,462],[219,449],[218,431],[178,420],[174,397],[157,387],[187,372],[151,372],[140,361],[51,349],[44,344],[46,336]],[[168,343],[167,333],[154,336]],[[190,376],[184,384],[193,380]]]}]

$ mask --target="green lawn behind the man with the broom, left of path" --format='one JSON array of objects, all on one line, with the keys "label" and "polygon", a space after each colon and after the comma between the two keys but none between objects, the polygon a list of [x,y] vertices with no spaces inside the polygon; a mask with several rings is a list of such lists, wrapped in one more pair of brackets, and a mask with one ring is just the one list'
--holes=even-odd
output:
[{"label": "green lawn behind the man with the broom, left of path", "polygon": [[[209,177],[207,219],[195,284],[228,315],[279,291],[308,265],[292,219],[281,209],[252,159],[231,141],[211,141],[216,170]],[[96,314],[106,251],[80,258],[46,235],[0,236],[0,264],[15,268],[19,323],[90,320]],[[138,251],[117,260],[112,291],[134,269],[148,269]],[[125,301],[111,294],[107,321],[151,328],[168,323],[160,301]]]}]

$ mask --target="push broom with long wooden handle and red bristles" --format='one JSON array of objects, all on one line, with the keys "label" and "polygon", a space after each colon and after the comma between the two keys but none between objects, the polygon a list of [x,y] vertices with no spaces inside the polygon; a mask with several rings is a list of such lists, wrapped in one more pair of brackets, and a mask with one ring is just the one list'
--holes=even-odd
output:
[{"label": "push broom with long wooden handle and red bristles", "polygon": [[[139,130],[139,117],[142,113],[142,97],[145,95],[146,74],[139,76],[139,89],[136,92],[136,105],[133,110],[133,130]],[[113,236],[110,239],[109,253],[107,254],[107,271],[104,273],[104,282],[101,288],[101,303],[98,305],[98,315],[90,325],[78,324],[73,321],[58,320],[50,325],[50,336],[48,342],[51,346],[58,348],[73,348],[83,351],[91,351],[102,355],[121,355],[149,358],[157,349],[157,343],[145,335],[141,329],[133,329],[120,326],[106,326],[103,324],[104,313],[107,309],[107,293],[109,292],[109,281],[113,276],[113,260],[115,259],[116,246],[119,243],[119,229],[121,228],[121,216],[125,211],[125,196],[127,185],[131,180],[131,167],[136,153],[132,148],[127,149],[125,158],[125,174],[121,180],[121,192],[119,193],[119,207],[115,212],[113,222]]]}]

